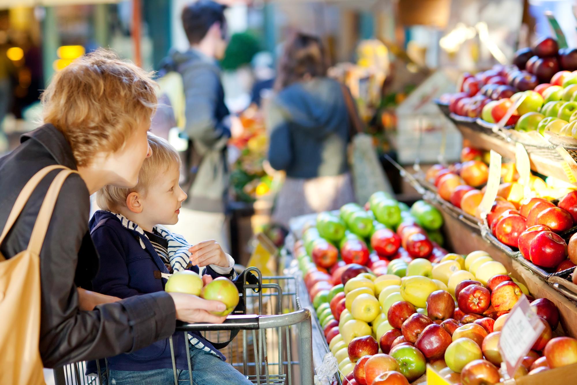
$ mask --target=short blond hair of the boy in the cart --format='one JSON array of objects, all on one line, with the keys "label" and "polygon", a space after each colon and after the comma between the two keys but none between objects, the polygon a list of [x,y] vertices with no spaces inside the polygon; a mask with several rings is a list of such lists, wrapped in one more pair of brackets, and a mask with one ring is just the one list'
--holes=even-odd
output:
[{"label": "short blond hair of the boy in the cart", "polygon": [[177,151],[168,142],[156,135],[148,134],[148,145],[152,149],[152,155],[146,158],[138,173],[138,183],[133,188],[120,188],[104,186],[96,193],[96,204],[103,210],[118,211],[120,207],[126,207],[126,197],[130,193],[137,192],[146,194],[147,188],[152,181],[162,173],[168,171],[171,166],[180,168],[181,159]]}]

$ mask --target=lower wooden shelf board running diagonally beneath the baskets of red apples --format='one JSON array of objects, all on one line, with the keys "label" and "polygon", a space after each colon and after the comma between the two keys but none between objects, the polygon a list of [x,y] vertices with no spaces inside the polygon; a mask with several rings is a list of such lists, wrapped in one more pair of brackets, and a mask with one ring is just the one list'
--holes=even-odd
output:
[{"label": "lower wooden shelf board running diagonally beneath the baskets of red apples", "polygon": [[433,204],[443,213],[445,220],[443,231],[448,235],[447,249],[464,255],[475,250],[484,250],[489,253],[495,261],[501,262],[512,276],[527,286],[531,295],[535,298],[548,298],[553,301],[559,309],[561,327],[565,334],[577,337],[577,305],[574,302],[569,301],[519,262],[512,260],[503,251],[487,242],[478,231],[447,214],[440,205],[434,202]]}]

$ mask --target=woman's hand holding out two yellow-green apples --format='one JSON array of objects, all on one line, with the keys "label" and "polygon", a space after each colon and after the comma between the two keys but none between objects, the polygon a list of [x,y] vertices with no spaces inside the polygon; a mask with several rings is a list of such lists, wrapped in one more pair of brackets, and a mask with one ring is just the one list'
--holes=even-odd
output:
[{"label": "woman's hand holding out two yellow-green apples", "polygon": [[220,301],[208,301],[196,295],[184,293],[169,293],[174,300],[174,307],[177,311],[177,320],[190,323],[208,322],[211,324],[222,324],[226,316],[219,317],[209,312],[222,312],[226,305]]}]

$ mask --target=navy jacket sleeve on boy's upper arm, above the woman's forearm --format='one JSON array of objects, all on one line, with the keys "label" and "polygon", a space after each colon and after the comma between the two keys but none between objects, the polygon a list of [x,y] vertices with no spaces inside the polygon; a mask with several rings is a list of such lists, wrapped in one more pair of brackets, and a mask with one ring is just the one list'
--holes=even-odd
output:
[{"label": "navy jacket sleeve on boy's upper arm, above the woman's forearm", "polygon": [[100,256],[100,266],[106,266],[99,269],[92,280],[94,290],[119,298],[142,294],[128,286],[130,276],[126,252],[117,232],[107,225],[100,225],[92,231],[91,237]]}]

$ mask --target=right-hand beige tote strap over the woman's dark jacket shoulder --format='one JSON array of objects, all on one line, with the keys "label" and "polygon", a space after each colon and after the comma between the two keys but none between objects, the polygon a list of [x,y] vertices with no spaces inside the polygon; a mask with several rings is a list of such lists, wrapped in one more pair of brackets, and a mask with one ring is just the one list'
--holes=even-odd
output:
[{"label": "right-hand beige tote strap over the woman's dark jacket shoulder", "polygon": [[52,217],[52,212],[54,211],[54,206],[56,205],[56,200],[58,199],[58,194],[60,193],[62,184],[64,184],[66,178],[72,173],[78,172],[71,169],[62,170],[54,178],[50,184],[50,187],[48,188],[46,197],[44,197],[42,206],[40,206],[38,217],[36,217],[36,223],[32,229],[30,242],[28,243],[27,250],[32,253],[32,255],[38,256],[40,254],[40,249],[42,249],[44,236],[46,236],[48,224],[50,223],[50,218]]}]

